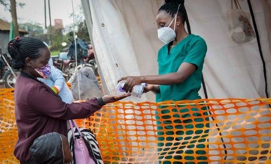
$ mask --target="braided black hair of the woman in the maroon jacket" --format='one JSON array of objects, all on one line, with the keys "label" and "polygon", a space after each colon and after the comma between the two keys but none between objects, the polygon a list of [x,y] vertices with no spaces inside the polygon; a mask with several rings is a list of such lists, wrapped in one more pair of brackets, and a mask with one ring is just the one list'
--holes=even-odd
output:
[{"label": "braided black hair of the woman in the maroon jacket", "polygon": [[11,65],[15,69],[22,69],[25,59],[35,59],[40,55],[40,48],[47,48],[43,41],[33,37],[16,37],[8,43],[8,53],[11,55]]}]

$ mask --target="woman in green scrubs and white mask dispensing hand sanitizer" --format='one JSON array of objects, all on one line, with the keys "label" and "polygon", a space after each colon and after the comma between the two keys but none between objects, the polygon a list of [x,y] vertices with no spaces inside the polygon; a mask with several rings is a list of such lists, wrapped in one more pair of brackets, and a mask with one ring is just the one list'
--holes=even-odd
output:
[{"label": "woman in green scrubs and white mask dispensing hand sanitizer", "polygon": [[[120,78],[118,82],[122,80],[126,81],[123,86],[123,89],[126,92],[132,92],[135,85],[145,82],[148,83],[148,86],[144,88],[144,92],[152,91],[155,93],[156,102],[166,100],[180,101],[201,99],[198,91],[201,87],[202,68],[207,52],[207,45],[200,36],[193,34],[189,35],[186,32],[184,27],[186,18],[187,14],[184,7],[184,0],[165,0],[165,4],[160,7],[158,14],[156,15],[158,38],[165,43],[158,52],[157,61],[159,75],[128,76]],[[199,116],[199,113],[194,114]],[[181,117],[188,119],[190,115],[184,114]],[[180,126],[182,127],[182,125],[185,125],[184,123],[186,123],[186,120],[181,119]],[[165,128],[167,129],[167,126]],[[205,131],[204,133],[205,135],[208,135],[208,131]],[[186,135],[192,134],[193,132]],[[168,133],[167,135],[172,134]],[[181,136],[183,136],[183,133],[181,133],[180,137],[177,137],[176,140],[182,141],[185,139]],[[202,136],[202,134],[199,134],[199,136]],[[163,137],[158,136],[158,140],[161,140],[161,138]],[[163,142],[164,141],[158,143],[158,148],[159,144],[164,145]],[[188,149],[189,146],[191,145],[188,145]],[[192,148],[192,146],[190,148]],[[204,148],[204,145],[197,148]],[[193,151],[187,151],[186,155],[189,155],[189,153],[191,156],[189,156],[187,160],[191,160],[193,163],[193,160],[196,158],[195,154],[193,154]],[[206,152],[201,150],[197,152],[197,154],[205,153]],[[177,157],[179,160],[182,158],[183,157]],[[206,157],[201,156],[197,159],[204,161],[206,160]],[[163,164],[164,163],[165,162],[163,162]]]}]

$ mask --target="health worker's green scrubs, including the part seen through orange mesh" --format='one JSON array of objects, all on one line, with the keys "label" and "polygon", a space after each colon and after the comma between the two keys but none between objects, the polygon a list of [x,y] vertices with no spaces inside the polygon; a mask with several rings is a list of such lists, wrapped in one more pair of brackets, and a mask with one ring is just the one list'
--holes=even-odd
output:
[{"label": "health worker's green scrubs, including the part seen through orange mesh", "polygon": [[[166,74],[166,73],[172,73],[172,72],[177,72],[178,69],[180,68],[181,64],[183,62],[191,63],[196,65],[196,70],[188,77],[184,82],[176,85],[160,85],[160,93],[156,94],[156,102],[162,102],[166,100],[173,100],[173,101],[180,101],[180,100],[196,100],[196,99],[201,99],[201,97],[198,95],[198,91],[201,87],[201,76],[202,76],[202,68],[203,68],[203,63],[204,63],[204,57],[207,52],[207,45],[206,42],[199,36],[196,35],[188,35],[186,38],[184,38],[182,41],[180,41],[176,46],[174,46],[171,50],[170,53],[168,54],[168,44],[163,46],[159,52],[158,52],[158,65],[159,65],[159,75],[161,74]],[[188,109],[181,109],[178,114],[174,114],[175,118],[180,118],[182,117],[181,121],[177,122],[175,120],[174,122],[178,124],[175,126],[175,128],[180,129],[178,132],[180,133],[180,137],[175,138],[176,141],[179,143],[185,143],[186,138],[183,138],[184,131],[181,129],[183,128],[183,125],[186,125],[186,128],[193,128],[192,124],[189,124],[189,114],[183,114],[180,116],[182,112],[185,112]],[[197,113],[199,109],[192,109],[191,112],[193,112],[193,115],[196,115],[200,117],[200,114]],[[166,109],[165,109],[166,111]],[[162,110],[162,113],[166,113],[164,110]],[[177,109],[173,109],[173,112],[178,112]],[[165,117],[165,116],[164,116]],[[187,119],[185,119],[187,118]],[[157,118],[158,119],[158,118]],[[158,119],[159,120],[159,119]],[[209,119],[208,119],[209,120]],[[196,118],[197,122],[201,122],[200,118]],[[169,126],[165,126],[165,129],[168,129],[169,131],[166,132],[166,135],[174,135],[174,132],[172,132],[170,129],[172,127],[170,126],[170,123],[165,120],[163,121],[166,124],[169,124]],[[163,127],[159,126],[160,123],[158,124],[158,129],[161,129]],[[206,127],[210,127],[209,123],[205,125]],[[196,132],[189,131],[189,133],[186,133],[186,136],[189,137],[193,135]],[[200,134],[194,134],[197,137],[203,136],[203,135],[208,135],[209,130],[202,132]],[[164,133],[158,131],[158,152],[161,151],[161,147],[164,145]],[[204,138],[200,140],[205,141]],[[170,141],[167,141],[170,142]],[[171,141],[172,142],[172,141]],[[174,142],[174,141],[173,141]],[[170,143],[167,143],[170,144]],[[166,146],[167,146],[166,144]],[[187,148],[188,150],[185,151],[186,156],[181,157],[180,155],[174,156],[174,159],[178,163],[179,160],[182,158],[191,161],[187,162],[186,164],[194,164],[193,160],[195,157],[193,157],[194,152],[190,149],[195,147],[194,144],[188,145]],[[205,146],[203,144],[196,145],[197,148],[204,148]],[[198,150],[197,154],[206,154],[204,150]],[[191,155],[191,156],[189,156]],[[160,158],[162,158],[163,155]],[[200,164],[207,164],[207,162],[204,162],[207,160],[206,156],[199,156],[196,157],[198,160],[202,160],[203,162],[200,162]],[[159,161],[161,164],[162,162]],[[177,164],[176,163],[176,164]],[[163,164],[170,164],[168,161],[164,161]]]}]

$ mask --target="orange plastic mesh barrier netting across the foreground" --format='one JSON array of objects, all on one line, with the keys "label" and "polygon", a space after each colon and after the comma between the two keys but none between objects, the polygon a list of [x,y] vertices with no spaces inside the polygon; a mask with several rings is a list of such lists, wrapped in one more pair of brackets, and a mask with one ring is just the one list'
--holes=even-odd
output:
[{"label": "orange plastic mesh barrier netting across the foreground", "polygon": [[[0,90],[0,161],[15,163],[12,90]],[[207,103],[204,103],[207,102]],[[271,163],[271,99],[117,102],[77,120],[105,163]]]}]

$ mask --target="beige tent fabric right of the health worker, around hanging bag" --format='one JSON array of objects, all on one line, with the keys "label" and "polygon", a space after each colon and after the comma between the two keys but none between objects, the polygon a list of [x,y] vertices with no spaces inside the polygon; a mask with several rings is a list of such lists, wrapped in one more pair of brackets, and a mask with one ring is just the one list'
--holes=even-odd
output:
[{"label": "beige tent fabric right of the health worker, around hanging bag", "polygon": [[[267,30],[262,5],[258,2],[253,0],[252,5],[261,43],[264,43],[267,40]],[[247,1],[240,3],[242,9],[249,12]],[[202,36],[208,45],[203,70],[208,95],[210,98],[265,97],[262,63],[256,39],[236,44],[229,37],[227,10],[230,5],[230,0],[186,1],[192,33]],[[270,62],[267,45],[262,44],[262,49],[266,63]]]}]

